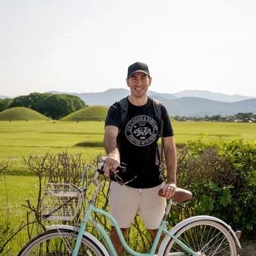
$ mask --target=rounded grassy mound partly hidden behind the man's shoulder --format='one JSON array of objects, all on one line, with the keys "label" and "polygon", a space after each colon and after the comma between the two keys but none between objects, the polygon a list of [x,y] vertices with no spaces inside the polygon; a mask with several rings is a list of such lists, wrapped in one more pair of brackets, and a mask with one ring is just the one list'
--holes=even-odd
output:
[{"label": "rounded grassy mound partly hidden behind the man's shoulder", "polygon": [[104,121],[108,108],[104,106],[91,106],[82,108],[76,112],[67,115],[61,121]]}]

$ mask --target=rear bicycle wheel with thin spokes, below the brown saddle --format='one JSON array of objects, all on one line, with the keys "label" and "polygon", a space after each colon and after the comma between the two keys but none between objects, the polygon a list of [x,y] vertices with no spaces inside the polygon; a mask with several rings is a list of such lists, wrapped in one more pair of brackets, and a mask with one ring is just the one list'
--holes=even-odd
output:
[{"label": "rear bicycle wheel with thin spokes, below the brown saddle", "polygon": [[[236,241],[218,221],[199,220],[181,227],[175,233],[182,243],[194,250],[198,256],[237,256]],[[170,239],[164,255],[190,255],[184,248]]]}]

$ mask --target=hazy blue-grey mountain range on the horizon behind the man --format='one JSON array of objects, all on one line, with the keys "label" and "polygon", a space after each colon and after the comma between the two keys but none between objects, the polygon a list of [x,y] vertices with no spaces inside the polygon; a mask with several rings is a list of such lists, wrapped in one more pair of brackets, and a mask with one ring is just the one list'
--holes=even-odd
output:
[{"label": "hazy blue-grey mountain range on the horizon behind the man", "polygon": [[[129,95],[127,89],[109,89],[99,93],[68,93],[77,95],[89,106],[111,106],[115,101]],[[51,92],[65,93],[65,92]],[[179,93],[157,93],[148,95],[163,102],[169,115],[205,116],[236,115],[237,113],[256,113],[256,98],[241,95],[225,95],[209,91],[186,90]]]}]

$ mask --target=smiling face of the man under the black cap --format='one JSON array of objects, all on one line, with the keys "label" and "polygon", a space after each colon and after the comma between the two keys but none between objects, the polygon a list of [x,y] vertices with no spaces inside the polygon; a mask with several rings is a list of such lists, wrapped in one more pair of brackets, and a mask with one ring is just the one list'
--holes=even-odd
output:
[{"label": "smiling face of the man under the black cap", "polygon": [[127,78],[126,82],[133,96],[143,97],[147,95],[148,87],[151,84],[151,77],[142,72],[137,72],[130,78]]}]

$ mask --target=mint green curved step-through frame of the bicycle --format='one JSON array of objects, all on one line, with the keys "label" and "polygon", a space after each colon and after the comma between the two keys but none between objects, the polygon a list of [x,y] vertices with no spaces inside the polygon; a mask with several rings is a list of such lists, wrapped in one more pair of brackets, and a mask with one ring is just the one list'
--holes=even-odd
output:
[{"label": "mint green curved step-through frame of the bicycle", "polygon": [[[82,241],[82,238],[83,238],[83,233],[84,233],[84,230],[86,229],[86,225],[87,225],[88,221],[90,221],[93,224],[93,226],[95,228],[97,228],[97,230],[99,230],[100,234],[104,238],[104,241],[108,245],[108,248],[109,248],[111,254],[113,256],[117,256],[116,250],[113,246],[113,243],[111,242],[110,237],[108,236],[108,233],[106,232],[104,227],[102,227],[99,223],[97,223],[97,221],[95,221],[92,218],[92,212],[97,212],[99,214],[102,214],[103,216],[106,216],[113,223],[114,227],[116,228],[116,232],[118,234],[118,237],[119,237],[121,243],[123,244],[125,250],[128,253],[131,253],[131,255],[134,255],[134,256],[152,256],[152,255],[154,255],[154,252],[156,251],[156,248],[157,248],[157,244],[158,244],[159,239],[161,237],[161,234],[163,232],[164,234],[167,234],[168,236],[172,237],[175,240],[175,242],[177,244],[179,244],[184,250],[186,250],[190,255],[198,256],[198,254],[195,251],[193,251],[191,248],[189,248],[186,244],[182,243],[182,241],[180,241],[177,237],[175,237],[172,233],[172,230],[167,230],[166,229],[166,224],[167,223],[164,220],[164,218],[161,221],[161,225],[160,225],[160,227],[157,231],[156,239],[154,240],[154,243],[152,244],[152,248],[151,248],[150,252],[149,253],[138,253],[138,252],[135,252],[134,250],[132,250],[132,248],[126,243],[126,241],[124,239],[124,236],[122,234],[122,231],[121,231],[117,221],[115,220],[115,218],[111,214],[109,214],[108,212],[95,207],[95,198],[96,198],[96,196],[99,192],[99,187],[100,187],[100,182],[99,182],[99,180],[97,180],[98,175],[99,175],[99,173],[95,174],[95,177],[93,178],[93,180],[94,180],[93,182],[95,182],[97,184],[97,188],[95,189],[93,199],[90,200],[90,202],[89,202],[88,208],[86,209],[86,214],[84,215],[83,221],[82,221],[81,226],[79,228],[79,232],[78,232],[77,240],[76,240],[76,245],[74,247],[74,250],[72,251],[72,256],[77,256],[78,253],[79,253],[79,247],[80,247],[80,244],[81,244],[81,241]],[[172,205],[173,205],[173,201],[170,199],[169,202],[168,202],[168,205],[166,207],[165,216],[170,211]]]}]

